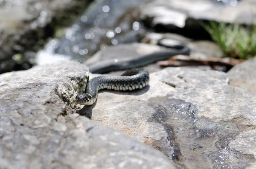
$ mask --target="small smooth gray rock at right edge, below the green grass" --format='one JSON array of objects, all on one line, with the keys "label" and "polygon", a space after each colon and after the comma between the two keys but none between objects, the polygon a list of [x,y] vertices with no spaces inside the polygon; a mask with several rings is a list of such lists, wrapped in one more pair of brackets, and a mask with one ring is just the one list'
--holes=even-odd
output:
[{"label": "small smooth gray rock at right edge, below the green grass", "polygon": [[239,86],[256,93],[256,57],[234,66],[229,72],[230,85]]}]

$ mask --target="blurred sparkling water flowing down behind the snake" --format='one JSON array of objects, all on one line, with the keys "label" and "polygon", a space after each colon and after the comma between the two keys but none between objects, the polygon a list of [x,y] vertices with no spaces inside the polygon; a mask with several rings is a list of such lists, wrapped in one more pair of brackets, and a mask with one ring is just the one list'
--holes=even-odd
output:
[{"label": "blurred sparkling water flowing down behind the snake", "polygon": [[[67,29],[57,46],[50,46],[57,54],[70,55],[83,62],[106,45],[137,42],[145,34],[138,22],[140,5],[150,0],[104,0],[93,3]],[[54,49],[56,47],[56,49]]]}]

